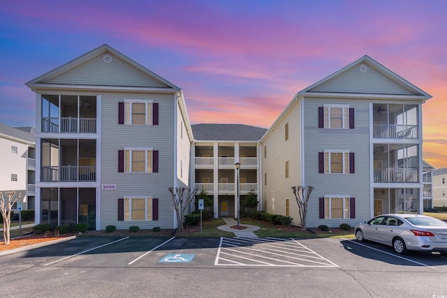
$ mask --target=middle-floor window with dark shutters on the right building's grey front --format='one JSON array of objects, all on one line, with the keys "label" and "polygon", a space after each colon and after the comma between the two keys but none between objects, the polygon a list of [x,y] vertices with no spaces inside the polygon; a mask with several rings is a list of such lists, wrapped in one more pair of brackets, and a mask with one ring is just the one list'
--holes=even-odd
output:
[{"label": "middle-floor window with dark shutters on the right building's grey front", "polygon": [[353,174],[354,153],[349,151],[324,151],[318,153],[318,172],[325,174]]}]

